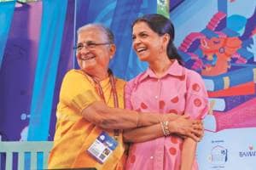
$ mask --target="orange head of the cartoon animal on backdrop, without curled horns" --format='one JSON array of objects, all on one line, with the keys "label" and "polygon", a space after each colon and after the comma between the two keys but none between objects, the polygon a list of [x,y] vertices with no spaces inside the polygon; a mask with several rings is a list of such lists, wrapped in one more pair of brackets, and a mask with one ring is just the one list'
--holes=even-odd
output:
[{"label": "orange head of the cartoon animal on backdrop, without curled horns", "polygon": [[201,38],[200,48],[206,57],[201,75],[217,76],[230,69],[231,57],[236,54],[237,49],[241,48],[241,40],[238,37]]}]

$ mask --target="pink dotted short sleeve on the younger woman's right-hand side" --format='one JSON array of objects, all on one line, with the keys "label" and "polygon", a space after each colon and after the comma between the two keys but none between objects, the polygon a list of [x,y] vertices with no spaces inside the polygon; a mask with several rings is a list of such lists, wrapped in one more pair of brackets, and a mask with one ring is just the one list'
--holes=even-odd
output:
[{"label": "pink dotted short sleeve on the younger woman's right-hand side", "polygon": [[194,119],[203,119],[209,110],[207,89],[201,76],[195,71],[188,72],[187,90],[185,114]]}]

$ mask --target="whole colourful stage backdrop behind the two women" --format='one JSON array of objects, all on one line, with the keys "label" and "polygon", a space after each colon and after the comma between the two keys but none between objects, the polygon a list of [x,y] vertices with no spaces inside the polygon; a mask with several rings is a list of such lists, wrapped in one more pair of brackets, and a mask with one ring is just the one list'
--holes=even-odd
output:
[{"label": "whole colourful stage backdrop behind the two women", "polygon": [[[147,68],[131,49],[131,22],[169,15],[188,68],[201,73],[211,111],[197,158],[202,170],[256,168],[256,2],[253,0],[0,0],[0,139],[52,140],[64,74],[77,68],[76,30],[109,26],[111,68],[130,80]],[[3,3],[4,2],[4,3]]]}]

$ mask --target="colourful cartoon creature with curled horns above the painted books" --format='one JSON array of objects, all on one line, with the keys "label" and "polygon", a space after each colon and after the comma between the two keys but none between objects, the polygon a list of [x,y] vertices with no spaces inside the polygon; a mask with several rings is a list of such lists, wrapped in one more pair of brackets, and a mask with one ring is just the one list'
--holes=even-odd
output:
[{"label": "colourful cartoon creature with curled horns above the painted books", "polygon": [[[253,54],[255,54],[253,50],[255,46],[253,35],[256,33],[255,19],[256,8],[248,18],[240,14],[227,17],[227,14],[218,11],[207,24],[207,30],[217,34],[218,37],[210,36],[211,38],[208,39],[204,31],[192,32],[185,37],[179,50],[189,54],[194,63],[188,66],[193,70],[201,71],[203,76],[218,76],[226,73],[232,70],[231,63],[252,63]],[[200,40],[199,46],[198,40]],[[200,51],[203,54],[195,53],[196,48],[201,48]]]}]

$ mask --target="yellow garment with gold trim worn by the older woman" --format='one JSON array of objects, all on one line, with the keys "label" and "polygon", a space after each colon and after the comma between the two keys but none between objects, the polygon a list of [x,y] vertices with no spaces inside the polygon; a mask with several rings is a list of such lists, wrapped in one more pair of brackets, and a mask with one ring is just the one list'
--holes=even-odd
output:
[{"label": "yellow garment with gold trim worn by the older woman", "polygon": [[[119,108],[124,108],[125,82],[115,79]],[[106,103],[114,107],[109,78],[100,82]],[[113,130],[96,127],[86,121],[81,111],[93,102],[100,100],[94,82],[83,71],[68,71],[61,84],[60,101],[57,106],[57,122],[54,146],[49,155],[49,168],[96,167],[101,169],[123,169],[125,164],[125,144],[119,133],[118,146],[103,164],[87,153],[102,131],[113,136]]]}]

